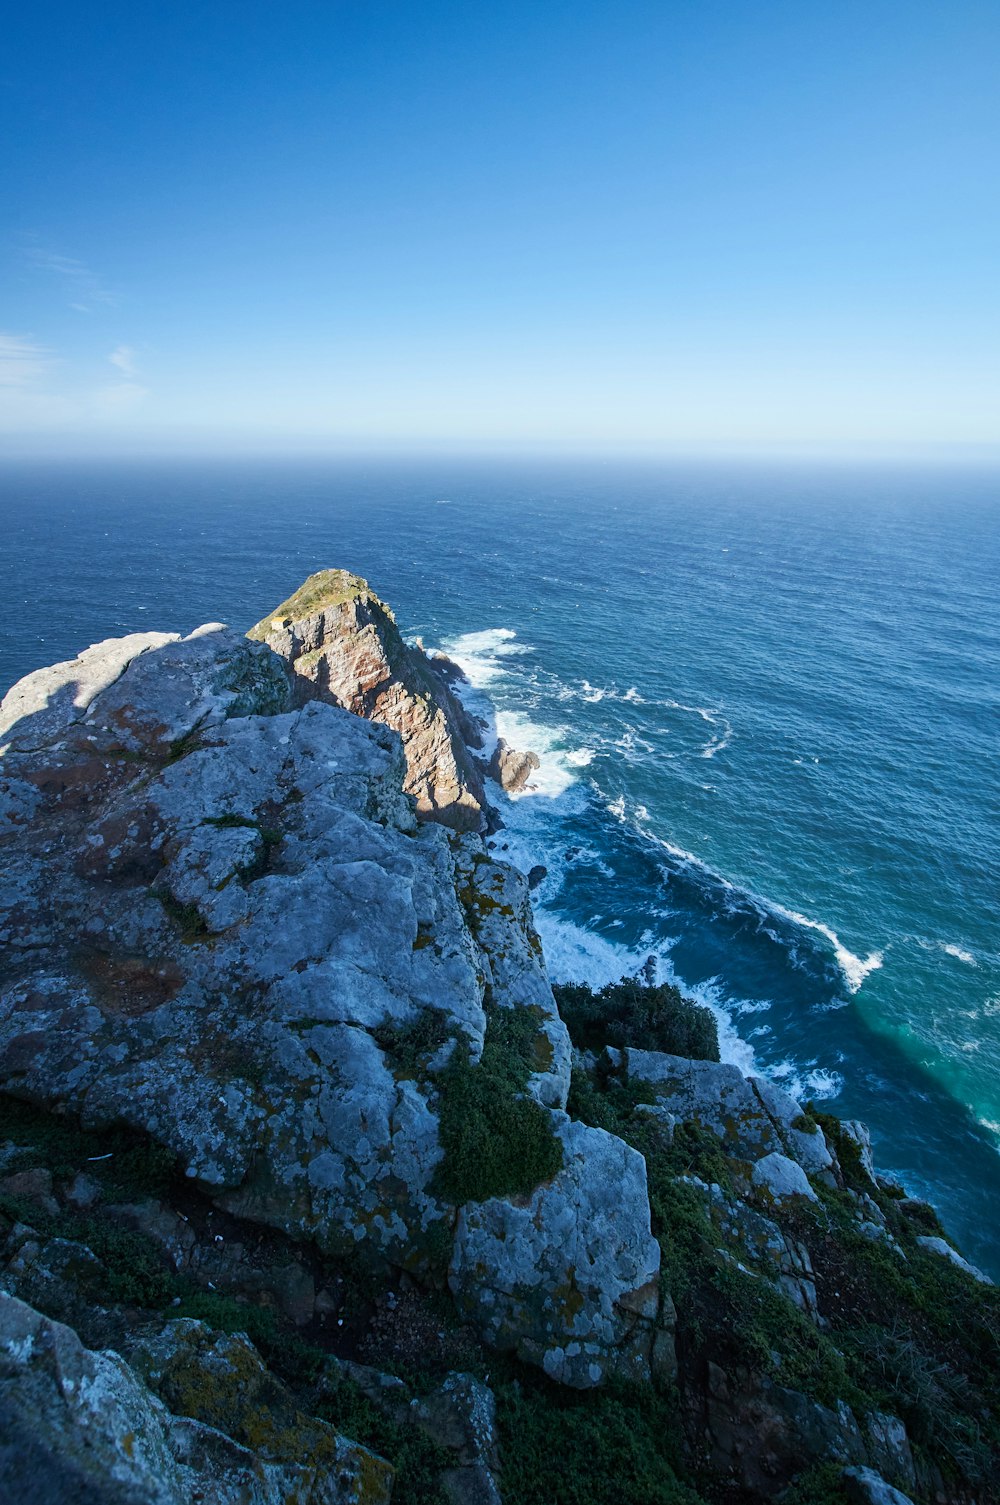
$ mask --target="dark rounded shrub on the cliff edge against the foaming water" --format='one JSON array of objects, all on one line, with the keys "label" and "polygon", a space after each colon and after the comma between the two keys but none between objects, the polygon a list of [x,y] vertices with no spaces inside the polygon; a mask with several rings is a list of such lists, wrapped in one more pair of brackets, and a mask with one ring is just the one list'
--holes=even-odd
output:
[{"label": "dark rounded shrub on the cliff edge against the foaming water", "polygon": [[623,978],[599,993],[562,983],[553,993],[569,1037],[581,1050],[633,1046],[718,1061],[718,1029],[711,1008],[684,998],[669,983],[649,987]]}]

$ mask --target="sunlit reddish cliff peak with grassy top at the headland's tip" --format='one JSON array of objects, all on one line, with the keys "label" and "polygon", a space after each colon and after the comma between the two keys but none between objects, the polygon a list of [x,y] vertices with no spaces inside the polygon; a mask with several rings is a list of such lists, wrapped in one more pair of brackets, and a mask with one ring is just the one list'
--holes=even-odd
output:
[{"label": "sunlit reddish cliff peak with grassy top at the headland's tip", "polygon": [[340,569],[310,575],[248,635],[288,662],[298,704],[327,700],[399,733],[404,789],[419,819],[452,831],[491,826],[483,768],[470,751],[482,746],[482,731],[449,688],[453,665],[438,668],[423,649],[404,643],[364,579]]}]

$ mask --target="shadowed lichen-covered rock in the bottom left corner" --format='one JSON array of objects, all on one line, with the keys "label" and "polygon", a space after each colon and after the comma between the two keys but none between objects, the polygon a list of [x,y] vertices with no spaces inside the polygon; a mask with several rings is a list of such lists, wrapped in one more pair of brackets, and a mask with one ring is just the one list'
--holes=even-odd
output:
[{"label": "shadowed lichen-covered rock in the bottom left corner", "polygon": [[[239,1354],[244,1367],[245,1358]],[[196,1370],[190,1380],[202,1394],[224,1388],[224,1364],[212,1367],[211,1353],[200,1356]],[[390,1466],[322,1422],[310,1419],[330,1434],[327,1449],[309,1457],[289,1448],[282,1455],[268,1419],[262,1439],[245,1445],[196,1419],[194,1409],[175,1413],[120,1354],[84,1348],[72,1329],[0,1293],[5,1499],[26,1505],[190,1505],[196,1499],[205,1505],[389,1505]],[[247,1418],[238,1425],[248,1434]]]}]

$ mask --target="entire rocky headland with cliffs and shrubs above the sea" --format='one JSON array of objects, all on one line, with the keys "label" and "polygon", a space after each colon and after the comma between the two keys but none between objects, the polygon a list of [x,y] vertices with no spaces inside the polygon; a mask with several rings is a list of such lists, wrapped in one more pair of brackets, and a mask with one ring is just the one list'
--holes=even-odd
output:
[{"label": "entire rocky headland with cliffs and shrubs above the sea", "polygon": [[461,688],[324,570],[5,698],[0,1497],[1000,1499],[997,1291],[706,1010],[553,989]]}]

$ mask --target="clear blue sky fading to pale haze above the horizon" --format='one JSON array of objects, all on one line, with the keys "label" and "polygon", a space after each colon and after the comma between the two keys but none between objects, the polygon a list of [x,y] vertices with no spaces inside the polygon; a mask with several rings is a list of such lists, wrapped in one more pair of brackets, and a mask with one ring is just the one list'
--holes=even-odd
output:
[{"label": "clear blue sky fading to pale haze above the horizon", "polygon": [[1000,441],[995,0],[20,12],[0,447]]}]

